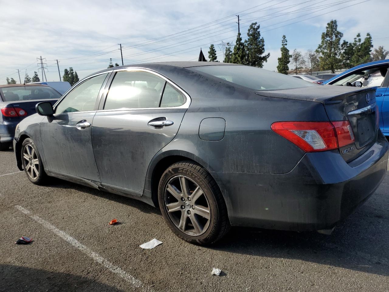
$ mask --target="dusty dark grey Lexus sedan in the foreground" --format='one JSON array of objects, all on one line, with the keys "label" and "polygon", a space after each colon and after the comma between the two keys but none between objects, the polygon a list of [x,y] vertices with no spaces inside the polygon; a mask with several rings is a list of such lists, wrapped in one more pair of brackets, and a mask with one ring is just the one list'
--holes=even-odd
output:
[{"label": "dusty dark grey Lexus sedan in the foreground", "polygon": [[159,206],[191,243],[230,225],[329,233],[387,170],[374,92],[226,63],[114,67],[37,104],[14,151],[32,183]]}]

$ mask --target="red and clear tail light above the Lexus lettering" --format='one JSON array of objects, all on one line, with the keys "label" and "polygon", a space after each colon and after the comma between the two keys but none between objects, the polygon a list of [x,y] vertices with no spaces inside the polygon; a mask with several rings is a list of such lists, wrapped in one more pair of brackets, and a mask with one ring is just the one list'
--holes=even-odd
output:
[{"label": "red and clear tail light above the Lexus lettering", "polygon": [[272,130],[305,152],[333,150],[355,141],[349,121],[276,122]]}]

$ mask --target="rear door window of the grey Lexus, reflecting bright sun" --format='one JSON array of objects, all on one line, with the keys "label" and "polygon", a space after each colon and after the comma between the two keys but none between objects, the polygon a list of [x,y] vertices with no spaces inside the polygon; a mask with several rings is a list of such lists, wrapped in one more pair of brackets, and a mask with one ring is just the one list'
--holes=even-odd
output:
[{"label": "rear door window of the grey Lexus, reflecting bright sun", "polygon": [[159,107],[164,85],[163,78],[149,72],[119,71],[109,88],[104,109]]}]

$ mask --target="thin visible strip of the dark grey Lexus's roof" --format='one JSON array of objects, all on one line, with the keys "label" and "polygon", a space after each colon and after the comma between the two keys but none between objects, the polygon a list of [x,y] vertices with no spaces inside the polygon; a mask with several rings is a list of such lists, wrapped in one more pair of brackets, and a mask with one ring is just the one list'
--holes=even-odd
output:
[{"label": "thin visible strip of the dark grey Lexus's roof", "polygon": [[139,67],[144,69],[153,69],[155,66],[175,66],[180,68],[190,68],[190,67],[200,67],[200,66],[223,66],[223,65],[235,65],[235,66],[243,66],[241,64],[231,64],[231,63],[221,63],[221,62],[198,62],[198,61],[182,61],[182,62],[153,62],[153,63],[140,63],[140,64],[131,64],[131,65],[124,65],[124,66],[118,66],[118,67],[112,67],[107,68],[104,70],[100,70],[98,72],[95,72],[91,75],[102,73],[102,72],[109,72],[111,70],[117,70],[117,69],[125,69],[125,68],[133,68],[133,67]]}]

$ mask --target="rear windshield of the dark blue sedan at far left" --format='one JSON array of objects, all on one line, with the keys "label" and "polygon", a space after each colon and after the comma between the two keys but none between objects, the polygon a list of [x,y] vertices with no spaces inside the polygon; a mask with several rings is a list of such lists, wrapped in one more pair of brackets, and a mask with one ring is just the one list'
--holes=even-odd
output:
[{"label": "rear windshield of the dark blue sedan at far left", "polygon": [[50,86],[12,86],[0,88],[3,101],[59,99],[61,94]]}]

